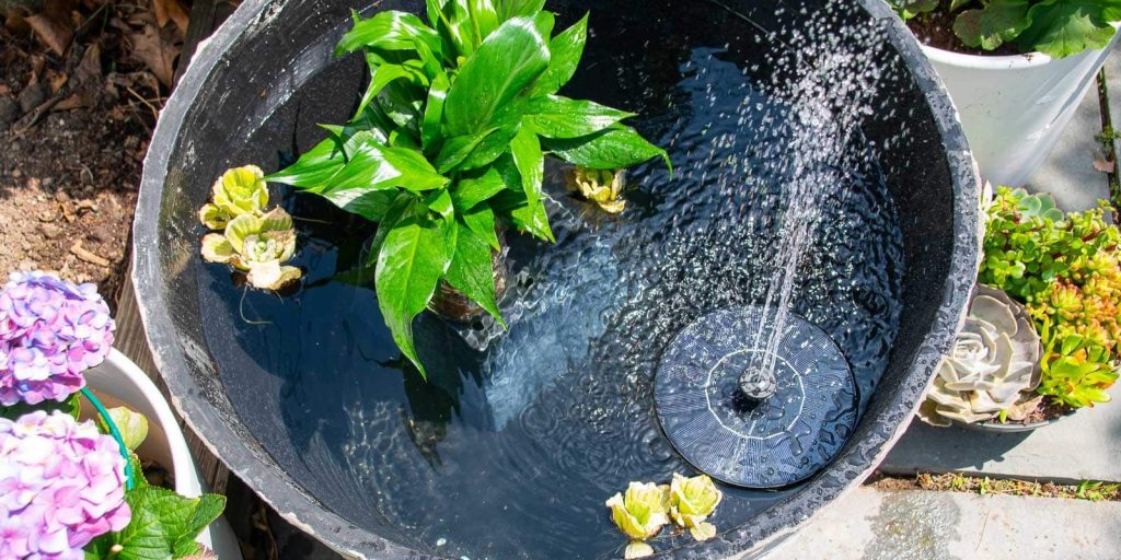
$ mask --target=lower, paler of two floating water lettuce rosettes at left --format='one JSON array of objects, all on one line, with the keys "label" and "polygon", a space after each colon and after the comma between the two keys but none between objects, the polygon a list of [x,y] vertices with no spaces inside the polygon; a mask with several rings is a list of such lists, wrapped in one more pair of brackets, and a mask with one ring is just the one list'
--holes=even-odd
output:
[{"label": "lower, paler of two floating water lettuce rosettes at left", "polygon": [[279,290],[299,280],[303,272],[284,263],[296,254],[296,230],[284,208],[258,216],[242,214],[225,226],[224,234],[203,237],[203,259],[231,264],[247,272],[254,288]]}]

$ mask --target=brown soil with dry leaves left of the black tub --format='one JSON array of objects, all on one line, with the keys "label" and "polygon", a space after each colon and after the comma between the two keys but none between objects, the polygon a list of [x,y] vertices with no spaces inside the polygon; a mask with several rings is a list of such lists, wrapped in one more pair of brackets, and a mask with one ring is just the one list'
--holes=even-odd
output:
[{"label": "brown soil with dry leaves left of the black tub", "polygon": [[0,28],[0,278],[57,272],[115,306],[160,86],[94,31],[56,56]]}]

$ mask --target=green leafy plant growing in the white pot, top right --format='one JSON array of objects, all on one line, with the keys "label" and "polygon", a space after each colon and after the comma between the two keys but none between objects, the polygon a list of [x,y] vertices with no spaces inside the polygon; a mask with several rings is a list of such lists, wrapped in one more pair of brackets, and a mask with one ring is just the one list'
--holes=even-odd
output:
[{"label": "green leafy plant growing in the white pot, top right", "polygon": [[954,34],[969,47],[995,50],[1016,43],[1053,58],[1105,47],[1121,20],[1119,0],[890,0],[904,19],[935,10],[954,15]]}]

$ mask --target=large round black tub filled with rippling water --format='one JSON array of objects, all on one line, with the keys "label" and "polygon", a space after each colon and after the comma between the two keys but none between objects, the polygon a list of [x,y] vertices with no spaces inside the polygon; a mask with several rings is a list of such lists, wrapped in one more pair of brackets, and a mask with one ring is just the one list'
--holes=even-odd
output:
[{"label": "large round black tub filled with rippling water", "polygon": [[628,209],[608,216],[567,196],[550,161],[558,243],[506,233],[509,330],[424,315],[425,383],[355,274],[371,224],[274,186],[297,220],[295,293],[247,291],[198,256],[213,180],[290,161],[365,80],[360,59],[332,56],[351,4],[242,3],[146,161],[133,280],[160,372],[231,470],[348,556],[613,558],[626,539],[608,497],[696,473],[656,413],[664,352],[712,314],[781,304],[844,355],[854,428],[797,484],[723,486],[717,538],[652,541],[676,558],[759,554],[871,472],[960,326],[980,194],[952,104],[878,0],[547,7],[558,30],[592,11],[563,93],[638,113],[676,172],[631,169]]}]

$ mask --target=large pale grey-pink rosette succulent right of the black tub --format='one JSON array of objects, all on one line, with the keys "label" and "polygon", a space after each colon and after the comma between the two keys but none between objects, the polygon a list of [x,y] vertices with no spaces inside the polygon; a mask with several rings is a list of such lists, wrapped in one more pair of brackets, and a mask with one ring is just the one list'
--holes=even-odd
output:
[{"label": "large pale grey-pink rosette succulent right of the black tub", "polygon": [[1031,405],[1023,393],[1039,384],[1039,335],[1027,309],[1007,293],[979,284],[965,326],[943,357],[919,417],[949,426],[1007,416],[1022,420]]}]

